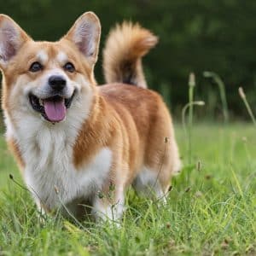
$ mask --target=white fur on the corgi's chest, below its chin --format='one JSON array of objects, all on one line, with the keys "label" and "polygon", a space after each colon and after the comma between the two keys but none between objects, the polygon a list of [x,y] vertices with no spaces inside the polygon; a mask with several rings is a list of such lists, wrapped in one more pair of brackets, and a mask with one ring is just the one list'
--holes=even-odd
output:
[{"label": "white fur on the corgi's chest, below its chin", "polygon": [[35,200],[52,209],[61,203],[95,194],[108,176],[111,150],[101,148],[77,170],[73,165],[73,145],[78,129],[66,121],[44,124],[44,120],[35,122],[31,119],[27,122],[26,119],[26,125],[20,125],[20,129],[15,131],[15,139],[26,164],[25,182]]}]

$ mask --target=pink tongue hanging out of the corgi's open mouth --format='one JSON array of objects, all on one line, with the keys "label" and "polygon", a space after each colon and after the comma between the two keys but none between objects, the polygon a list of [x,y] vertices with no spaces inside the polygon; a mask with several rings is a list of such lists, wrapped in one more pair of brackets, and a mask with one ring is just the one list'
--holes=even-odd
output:
[{"label": "pink tongue hanging out of the corgi's open mouth", "polygon": [[66,107],[64,99],[61,101],[44,100],[44,112],[49,121],[60,122],[66,116]]}]

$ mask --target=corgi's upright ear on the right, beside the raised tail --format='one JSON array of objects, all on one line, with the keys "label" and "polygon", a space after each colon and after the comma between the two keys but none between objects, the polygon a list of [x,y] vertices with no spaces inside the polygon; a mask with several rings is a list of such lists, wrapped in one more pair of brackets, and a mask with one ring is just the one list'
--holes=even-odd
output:
[{"label": "corgi's upright ear on the right, beside the raised tail", "polygon": [[96,63],[101,38],[101,23],[94,13],[87,12],[81,15],[64,38],[76,44],[91,66]]}]

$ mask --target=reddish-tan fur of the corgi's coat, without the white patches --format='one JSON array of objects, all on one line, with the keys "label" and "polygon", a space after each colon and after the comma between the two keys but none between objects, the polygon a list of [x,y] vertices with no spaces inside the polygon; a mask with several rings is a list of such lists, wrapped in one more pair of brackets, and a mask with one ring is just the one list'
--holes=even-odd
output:
[{"label": "reddish-tan fur of the corgi's coat, without the white patches", "polygon": [[[91,22],[98,22],[96,18],[90,15],[89,17]],[[0,16],[0,25],[1,19],[3,16]],[[123,193],[135,181],[143,168],[155,174],[155,183],[159,183],[160,189],[166,193],[172,175],[180,168],[172,119],[166,104],[156,92],[139,88],[147,86],[141,57],[157,43],[157,38],[139,25],[124,23],[122,26],[117,26],[110,33],[104,49],[105,77],[107,82],[114,83],[96,86],[93,67],[97,57],[97,47],[95,55],[81,56],[79,47],[72,42],[76,24],[67,36],[55,43],[34,42],[22,34],[24,41],[17,54],[12,57],[7,67],[1,67],[5,115],[9,116],[14,126],[19,126],[17,118],[13,115],[14,109],[19,108],[12,93],[14,87],[15,90],[19,88],[16,91],[18,96],[22,94],[25,84],[34,83],[35,87],[39,86],[37,81],[45,72],[62,68],[55,60],[60,51],[64,52],[76,67],[75,73],[67,73],[68,78],[78,84],[84,83],[82,81],[85,79],[90,84],[92,93],[90,115],[88,119],[84,119],[73,145],[73,155],[70,155],[76,172],[83,172],[79,170],[83,170],[102,148],[107,147],[111,150],[113,158],[108,178],[104,180],[101,189],[108,194],[109,185],[114,185],[111,203],[119,201],[119,193]],[[100,33],[100,28],[97,33]],[[42,72],[31,73],[28,71],[29,67],[33,61],[37,61],[36,56],[40,49],[44,49],[48,60],[44,63]],[[127,72],[125,63],[131,65],[133,77],[130,82],[134,82],[137,86],[115,83],[125,78]],[[88,91],[82,86],[81,96],[87,93]],[[83,104],[86,106],[87,102]],[[13,148],[20,168],[26,168],[19,144],[15,143],[13,137],[9,138],[9,145]],[[104,200],[100,204],[105,208],[109,203]],[[50,210],[45,208],[47,211]]]}]

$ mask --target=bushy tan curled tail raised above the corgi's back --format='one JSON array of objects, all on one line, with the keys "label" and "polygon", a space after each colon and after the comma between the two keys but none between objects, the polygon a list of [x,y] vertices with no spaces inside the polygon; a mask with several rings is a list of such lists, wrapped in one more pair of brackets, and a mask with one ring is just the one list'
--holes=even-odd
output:
[{"label": "bushy tan curled tail raised above the corgi's back", "polygon": [[157,44],[158,38],[147,29],[124,22],[109,33],[103,51],[103,70],[107,83],[133,84],[147,88],[142,57]]}]

